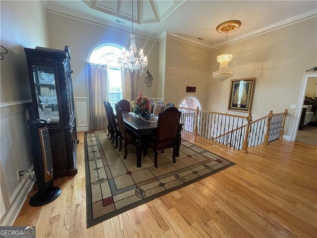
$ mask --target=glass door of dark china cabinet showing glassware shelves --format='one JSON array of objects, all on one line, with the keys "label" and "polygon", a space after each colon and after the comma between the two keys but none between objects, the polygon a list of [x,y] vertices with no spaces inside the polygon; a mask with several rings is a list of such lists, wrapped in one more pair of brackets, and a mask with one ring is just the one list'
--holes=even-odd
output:
[{"label": "glass door of dark china cabinet showing glassware shelves", "polygon": [[32,65],[39,118],[59,122],[54,67]]}]

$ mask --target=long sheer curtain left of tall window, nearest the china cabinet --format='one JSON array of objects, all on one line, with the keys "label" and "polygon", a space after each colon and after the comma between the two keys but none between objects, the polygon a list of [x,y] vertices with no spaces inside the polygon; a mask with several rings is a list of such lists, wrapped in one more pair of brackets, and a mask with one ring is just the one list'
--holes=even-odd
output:
[{"label": "long sheer curtain left of tall window, nearest the china cabinet", "polygon": [[100,130],[107,128],[106,100],[107,68],[106,65],[87,63],[88,71],[88,101],[89,129]]}]

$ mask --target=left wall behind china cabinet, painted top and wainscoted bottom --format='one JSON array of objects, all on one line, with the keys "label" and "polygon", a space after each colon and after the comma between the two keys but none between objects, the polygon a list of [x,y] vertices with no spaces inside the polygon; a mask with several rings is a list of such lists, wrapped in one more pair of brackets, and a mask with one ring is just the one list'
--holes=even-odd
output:
[{"label": "left wall behind china cabinet, painted top and wainscoted bottom", "polygon": [[8,225],[26,198],[26,194],[20,195],[27,180],[19,181],[17,170],[29,170],[33,164],[25,117],[25,103],[31,100],[31,91],[23,48],[49,44],[42,1],[0,4],[1,46],[8,50],[0,63],[0,199],[1,224]]}]

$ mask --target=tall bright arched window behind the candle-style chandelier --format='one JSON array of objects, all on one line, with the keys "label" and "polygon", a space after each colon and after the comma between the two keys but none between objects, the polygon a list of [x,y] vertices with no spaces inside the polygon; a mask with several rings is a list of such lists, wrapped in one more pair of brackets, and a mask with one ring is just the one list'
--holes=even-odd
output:
[{"label": "tall bright arched window behind the candle-style chandelier", "polygon": [[107,98],[112,108],[114,104],[122,99],[122,74],[121,66],[117,63],[117,58],[121,53],[121,48],[115,44],[103,44],[96,47],[90,57],[89,62],[107,65]]}]

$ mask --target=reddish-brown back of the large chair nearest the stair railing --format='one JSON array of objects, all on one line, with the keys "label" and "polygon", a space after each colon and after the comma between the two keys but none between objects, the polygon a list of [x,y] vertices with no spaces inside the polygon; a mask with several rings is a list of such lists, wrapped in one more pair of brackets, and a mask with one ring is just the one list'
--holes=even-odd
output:
[{"label": "reddish-brown back of the large chair nearest the stair railing", "polygon": [[158,133],[156,146],[170,146],[174,145],[177,131],[179,128],[181,112],[177,108],[171,107],[159,114]]}]

